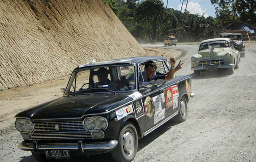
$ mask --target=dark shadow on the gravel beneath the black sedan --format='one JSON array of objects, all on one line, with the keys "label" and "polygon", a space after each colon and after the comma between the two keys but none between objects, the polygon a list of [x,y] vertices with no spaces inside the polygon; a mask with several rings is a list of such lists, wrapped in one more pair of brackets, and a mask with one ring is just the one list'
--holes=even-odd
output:
[{"label": "dark shadow on the gravel beneath the black sedan", "polygon": [[[167,121],[165,124],[160,126],[159,128],[155,129],[153,132],[149,133],[147,136],[139,139],[139,146],[138,150],[143,149],[145,146],[153,142],[156,138],[161,136],[163,133],[165,133],[167,130],[171,129],[172,126],[175,126],[179,124],[179,122],[174,122],[173,120]],[[32,155],[30,156],[23,156],[21,157],[22,160],[20,162],[35,162],[36,160]],[[77,156],[77,157],[72,157],[71,160],[56,160],[54,162],[113,162],[111,158],[111,154],[97,154],[97,155],[92,155],[92,156]],[[50,161],[49,161],[50,162]]]}]

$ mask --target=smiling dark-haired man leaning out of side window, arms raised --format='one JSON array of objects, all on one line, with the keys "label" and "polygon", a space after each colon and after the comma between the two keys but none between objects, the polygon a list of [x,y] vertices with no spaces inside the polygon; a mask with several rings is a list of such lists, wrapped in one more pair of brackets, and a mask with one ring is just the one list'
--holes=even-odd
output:
[{"label": "smiling dark-haired man leaning out of side window, arms raised", "polygon": [[166,74],[159,75],[159,74],[155,74],[155,70],[157,69],[155,62],[153,62],[152,60],[148,60],[145,64],[145,75],[147,80],[144,80],[144,81],[149,82],[151,80],[157,80],[157,79],[163,79],[165,81],[171,80],[173,78],[174,73],[177,72],[179,69],[181,69],[181,65],[183,63],[180,64],[179,62],[179,64],[175,68],[175,63],[176,63],[175,58],[170,58],[169,62],[171,63],[171,70]]}]

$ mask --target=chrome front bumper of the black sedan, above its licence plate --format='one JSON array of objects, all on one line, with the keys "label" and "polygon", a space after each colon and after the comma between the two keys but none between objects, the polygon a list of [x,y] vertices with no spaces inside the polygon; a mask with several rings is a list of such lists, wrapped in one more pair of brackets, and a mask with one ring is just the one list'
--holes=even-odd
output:
[{"label": "chrome front bumper of the black sedan, above its licence plate", "polygon": [[18,148],[25,151],[42,152],[45,150],[71,150],[74,152],[109,152],[113,150],[118,144],[117,140],[110,140],[109,142],[100,143],[49,143],[49,144],[37,144],[36,141],[33,143],[21,142]]}]

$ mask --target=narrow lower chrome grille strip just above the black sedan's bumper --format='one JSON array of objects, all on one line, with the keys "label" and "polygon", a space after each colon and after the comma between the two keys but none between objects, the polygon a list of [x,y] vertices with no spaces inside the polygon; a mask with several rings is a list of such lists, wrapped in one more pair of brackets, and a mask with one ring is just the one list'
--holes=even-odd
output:
[{"label": "narrow lower chrome grille strip just above the black sedan's bumper", "polygon": [[77,138],[93,138],[90,132],[84,133],[66,133],[66,134],[31,134],[31,139],[77,139]]}]

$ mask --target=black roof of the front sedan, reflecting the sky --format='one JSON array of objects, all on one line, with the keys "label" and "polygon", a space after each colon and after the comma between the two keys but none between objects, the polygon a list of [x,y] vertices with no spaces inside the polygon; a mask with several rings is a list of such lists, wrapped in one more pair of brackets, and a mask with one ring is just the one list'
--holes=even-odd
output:
[{"label": "black roof of the front sedan, reflecting the sky", "polygon": [[86,63],[83,65],[79,65],[75,70],[80,70],[83,68],[91,68],[91,67],[101,67],[101,66],[111,66],[111,65],[138,65],[140,63],[147,62],[147,60],[163,60],[166,59],[165,57],[160,56],[140,56],[140,57],[129,57],[129,58],[119,58],[119,59],[113,59],[113,60],[105,60],[105,61],[99,61],[95,63]]}]

